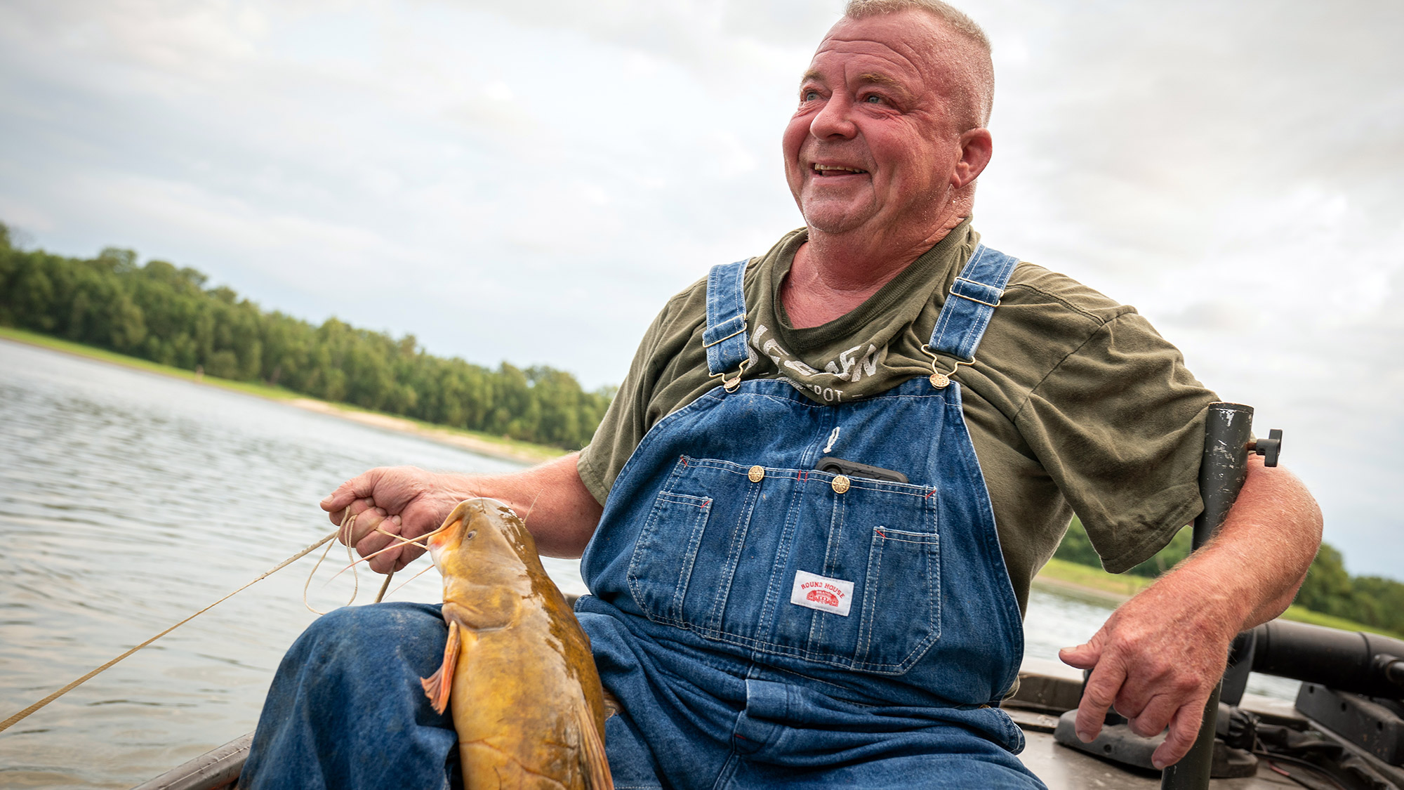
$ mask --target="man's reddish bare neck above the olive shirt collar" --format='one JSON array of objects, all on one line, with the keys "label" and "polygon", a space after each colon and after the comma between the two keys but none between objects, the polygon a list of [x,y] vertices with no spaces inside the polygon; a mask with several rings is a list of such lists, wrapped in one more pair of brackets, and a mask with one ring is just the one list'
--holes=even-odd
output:
[{"label": "man's reddish bare neck above the olive shirt collar", "polygon": [[812,228],[781,283],[781,304],[790,326],[820,326],[848,315],[962,221],[965,216],[953,216],[932,233],[910,239],[830,235]]}]

